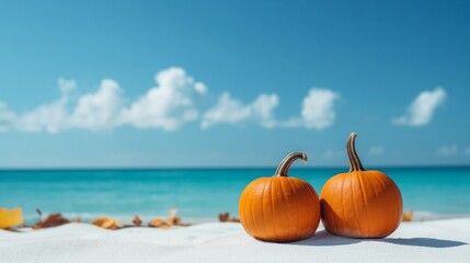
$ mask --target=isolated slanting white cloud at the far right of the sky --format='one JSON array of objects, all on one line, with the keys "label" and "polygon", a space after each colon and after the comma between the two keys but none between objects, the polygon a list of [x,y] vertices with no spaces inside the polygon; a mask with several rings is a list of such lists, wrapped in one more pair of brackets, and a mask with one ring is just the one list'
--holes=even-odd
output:
[{"label": "isolated slanting white cloud at the far right of the sky", "polygon": [[435,110],[446,100],[446,91],[438,87],[423,91],[411,103],[404,116],[392,119],[396,125],[423,126],[431,122]]}]

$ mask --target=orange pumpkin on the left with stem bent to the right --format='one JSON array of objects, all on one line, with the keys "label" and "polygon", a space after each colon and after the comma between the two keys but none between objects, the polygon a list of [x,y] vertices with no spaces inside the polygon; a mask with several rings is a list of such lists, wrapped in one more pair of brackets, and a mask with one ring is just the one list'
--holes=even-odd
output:
[{"label": "orange pumpkin on the left with stem bent to the right", "polygon": [[290,242],[310,238],[320,222],[320,203],[314,188],[306,181],[287,176],[297,159],[307,155],[288,155],[271,178],[251,182],[239,202],[240,221],[255,239]]}]

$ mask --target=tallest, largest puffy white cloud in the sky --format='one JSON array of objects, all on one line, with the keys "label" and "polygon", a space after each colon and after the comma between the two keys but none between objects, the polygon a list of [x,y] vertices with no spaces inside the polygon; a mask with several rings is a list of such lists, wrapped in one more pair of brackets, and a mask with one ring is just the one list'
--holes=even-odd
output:
[{"label": "tallest, largest puffy white cloud in the sky", "polygon": [[207,92],[202,82],[188,77],[182,68],[160,71],[158,87],[123,110],[119,121],[138,128],[174,130],[198,118],[197,101]]}]

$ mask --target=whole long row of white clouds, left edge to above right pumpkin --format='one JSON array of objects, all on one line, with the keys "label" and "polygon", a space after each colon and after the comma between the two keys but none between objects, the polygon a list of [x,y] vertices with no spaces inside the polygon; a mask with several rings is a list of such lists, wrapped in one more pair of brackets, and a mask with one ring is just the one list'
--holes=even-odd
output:
[{"label": "whole long row of white clouds, left edge to above right pumpkin", "polygon": [[200,122],[203,129],[240,122],[256,123],[264,128],[322,129],[334,123],[334,102],[339,98],[328,89],[311,89],[302,101],[299,116],[278,121],[274,116],[279,104],[277,94],[260,94],[252,102],[243,103],[223,92],[216,104],[202,114],[202,101],[208,89],[186,75],[184,69],[173,67],[162,70],[156,75],[156,83],[154,88],[131,101],[111,79],[103,80],[94,92],[71,96],[77,82],[60,78],[60,98],[32,111],[15,114],[0,102],[0,130],[14,128],[55,134],[71,128],[102,130],[123,125],[175,130],[185,123],[196,121]]}]

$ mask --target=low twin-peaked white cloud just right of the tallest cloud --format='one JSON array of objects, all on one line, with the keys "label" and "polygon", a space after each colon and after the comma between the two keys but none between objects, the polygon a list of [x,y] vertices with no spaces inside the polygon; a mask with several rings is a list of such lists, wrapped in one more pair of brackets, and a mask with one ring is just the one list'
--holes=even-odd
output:
[{"label": "low twin-peaked white cloud just right of the tallest cloud", "polygon": [[200,127],[205,129],[219,123],[234,124],[251,118],[257,121],[263,127],[271,128],[276,125],[273,110],[277,104],[276,94],[261,94],[245,105],[225,92],[219,96],[217,104],[204,114]]}]

